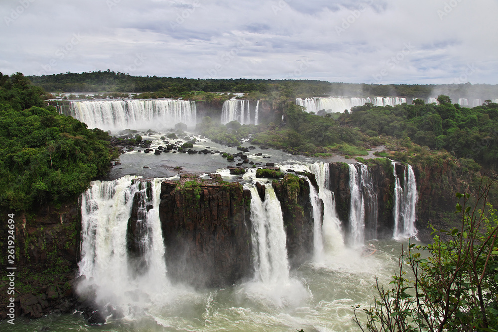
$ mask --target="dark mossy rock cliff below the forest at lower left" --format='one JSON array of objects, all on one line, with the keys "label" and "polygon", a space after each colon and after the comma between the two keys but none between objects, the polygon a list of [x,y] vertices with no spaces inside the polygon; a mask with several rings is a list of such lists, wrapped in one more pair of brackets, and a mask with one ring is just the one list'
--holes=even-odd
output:
[{"label": "dark mossy rock cliff below the forest at lower left", "polygon": [[[10,212],[8,212],[10,213]],[[7,212],[2,213],[3,216]],[[81,221],[77,203],[61,208],[44,206],[35,214],[15,214],[15,264],[2,254],[1,269],[15,266],[15,316],[39,318],[43,314],[72,312]],[[6,219],[5,219],[6,220]],[[7,252],[7,222],[0,226],[2,253]],[[8,265],[7,265],[8,264]],[[0,292],[7,294],[9,280],[2,273]],[[2,296],[0,319],[7,318]]]}]

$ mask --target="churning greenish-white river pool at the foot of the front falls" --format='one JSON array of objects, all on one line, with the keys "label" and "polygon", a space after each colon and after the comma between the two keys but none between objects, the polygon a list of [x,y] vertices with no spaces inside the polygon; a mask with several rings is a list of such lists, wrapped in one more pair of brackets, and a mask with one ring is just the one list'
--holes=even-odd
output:
[{"label": "churning greenish-white river pool at the foot of the front falls", "polygon": [[[387,284],[401,247],[393,240],[378,241],[375,245],[378,252],[371,257],[362,257],[352,249],[337,249],[327,253],[325,263],[308,264],[291,272],[289,278],[299,283],[298,292],[287,294],[295,302],[281,306],[263,296],[264,288],[258,288],[260,285],[251,288],[248,282],[223,289],[179,289],[168,297],[169,302],[165,300],[162,305],[145,310],[142,316],[110,318],[101,327],[89,326],[76,313],[31,321],[20,318],[13,329],[6,331],[357,332],[360,329],[352,321],[352,306],[368,307],[375,295],[375,276]],[[156,291],[162,292],[163,288],[156,287]]]}]

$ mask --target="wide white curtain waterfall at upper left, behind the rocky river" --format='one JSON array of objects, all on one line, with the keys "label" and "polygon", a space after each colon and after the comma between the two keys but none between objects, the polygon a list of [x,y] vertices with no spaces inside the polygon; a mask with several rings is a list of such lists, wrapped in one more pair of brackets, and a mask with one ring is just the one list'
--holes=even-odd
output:
[{"label": "wide white curtain waterfall at upper left, behind the rocky river", "polygon": [[123,130],[126,128],[156,130],[171,128],[183,122],[197,122],[195,102],[182,100],[106,100],[71,102],[68,114],[85,122],[89,128]]}]

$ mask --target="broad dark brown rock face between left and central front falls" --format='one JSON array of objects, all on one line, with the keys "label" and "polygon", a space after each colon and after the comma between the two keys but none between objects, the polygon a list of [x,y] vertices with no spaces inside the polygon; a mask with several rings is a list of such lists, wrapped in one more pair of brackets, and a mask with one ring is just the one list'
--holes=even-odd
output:
[{"label": "broad dark brown rock face between left and central front falls", "polygon": [[253,275],[250,192],[240,183],[182,175],[161,186],[159,218],[172,281],[232,285]]}]

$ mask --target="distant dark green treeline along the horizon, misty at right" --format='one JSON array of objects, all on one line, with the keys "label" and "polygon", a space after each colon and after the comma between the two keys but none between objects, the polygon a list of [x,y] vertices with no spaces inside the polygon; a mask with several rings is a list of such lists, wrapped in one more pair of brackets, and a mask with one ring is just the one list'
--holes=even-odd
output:
[{"label": "distant dark green treeline along the horizon, misty at right", "polygon": [[35,85],[47,92],[162,92],[162,95],[181,97],[192,91],[271,94],[283,93],[286,97],[392,96],[406,98],[498,98],[498,85],[451,84],[352,84],[330,83],[317,80],[264,80],[264,79],[189,79],[181,77],[131,76],[111,70],[85,73],[27,76]]}]

